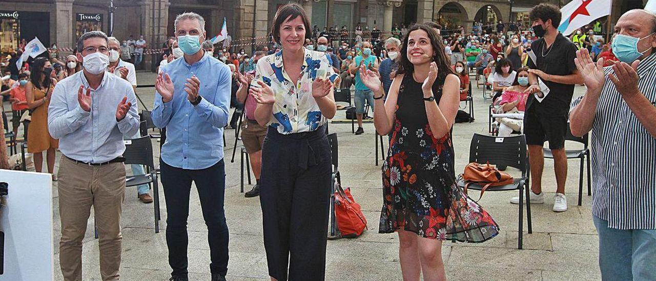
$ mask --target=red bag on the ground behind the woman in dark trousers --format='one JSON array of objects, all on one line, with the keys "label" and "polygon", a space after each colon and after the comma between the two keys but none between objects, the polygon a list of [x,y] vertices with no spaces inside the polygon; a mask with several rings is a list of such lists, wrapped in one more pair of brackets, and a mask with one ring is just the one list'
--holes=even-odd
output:
[{"label": "red bag on the ground behind the woman in dark trousers", "polygon": [[342,189],[337,185],[335,190],[335,217],[337,228],[342,237],[356,238],[367,229],[367,219],[362,214],[360,204],[353,199],[350,188]]}]

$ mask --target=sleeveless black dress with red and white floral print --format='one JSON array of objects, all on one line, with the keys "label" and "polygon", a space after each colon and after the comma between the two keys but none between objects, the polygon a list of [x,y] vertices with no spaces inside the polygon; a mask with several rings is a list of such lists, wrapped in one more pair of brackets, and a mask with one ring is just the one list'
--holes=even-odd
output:
[{"label": "sleeveless black dress with red and white floral print", "polygon": [[[444,80],[433,85],[438,103]],[[489,240],[499,234],[499,227],[457,186],[451,133],[432,135],[422,98],[421,83],[411,74],[405,75],[388,158],[382,165],[379,233],[403,228],[439,240]]]}]

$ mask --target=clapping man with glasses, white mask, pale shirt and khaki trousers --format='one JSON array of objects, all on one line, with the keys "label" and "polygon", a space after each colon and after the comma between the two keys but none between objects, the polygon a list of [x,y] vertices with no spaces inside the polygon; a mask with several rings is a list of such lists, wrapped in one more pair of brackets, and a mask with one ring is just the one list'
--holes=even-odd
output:
[{"label": "clapping man with glasses, white mask, pale shirt and khaki trousers", "polygon": [[[123,136],[139,131],[132,85],[106,72],[108,39],[84,33],[77,41],[84,70],[59,81],[48,108],[48,131],[59,139],[60,267],[64,280],[82,280],[82,239],[94,207],[102,280],[119,280],[121,210],[125,198]],[[100,214],[100,215],[99,215]]]}]

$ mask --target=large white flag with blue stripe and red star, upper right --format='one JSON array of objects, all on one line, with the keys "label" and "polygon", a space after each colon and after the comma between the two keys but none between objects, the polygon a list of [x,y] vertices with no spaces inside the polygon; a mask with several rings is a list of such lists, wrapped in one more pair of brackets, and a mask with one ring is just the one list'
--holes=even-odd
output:
[{"label": "large white flag with blue stripe and red star, upper right", "polygon": [[558,31],[567,36],[593,20],[611,14],[612,5],[613,0],[572,0],[560,9],[562,20]]}]

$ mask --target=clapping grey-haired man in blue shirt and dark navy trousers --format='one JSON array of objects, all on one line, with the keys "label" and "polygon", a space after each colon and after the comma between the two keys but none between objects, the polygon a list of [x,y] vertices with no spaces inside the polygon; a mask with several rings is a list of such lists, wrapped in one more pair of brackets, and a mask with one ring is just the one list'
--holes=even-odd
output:
[{"label": "clapping grey-haired man in blue shirt and dark navy trousers", "polygon": [[187,277],[187,217],[192,181],[208,229],[212,281],[228,272],[228,225],[224,213],[223,127],[228,124],[230,68],[205,56],[205,20],[194,12],[174,22],[184,56],[160,68],[153,123],[166,127],[160,169],[167,207],[167,246],[172,280]]}]

